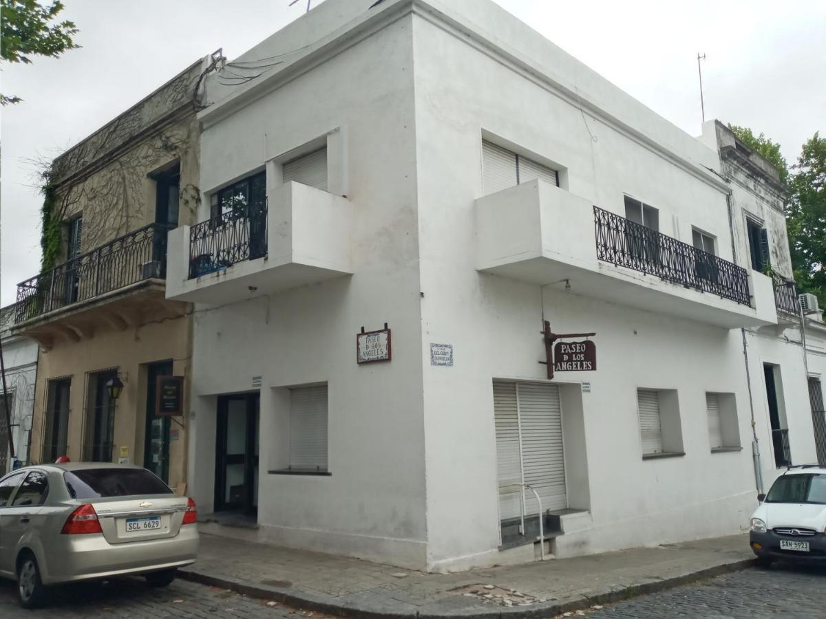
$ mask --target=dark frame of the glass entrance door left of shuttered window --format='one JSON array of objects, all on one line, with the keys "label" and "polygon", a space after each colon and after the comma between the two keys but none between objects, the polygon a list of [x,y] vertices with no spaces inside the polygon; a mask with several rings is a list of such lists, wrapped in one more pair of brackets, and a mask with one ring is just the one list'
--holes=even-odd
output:
[{"label": "dark frame of the glass entrance door left of shuttered window", "polygon": [[[246,437],[244,455],[227,456],[226,454],[226,422],[228,404],[232,400],[246,402]],[[260,395],[254,393],[219,395],[216,418],[215,443],[215,507],[214,511],[243,511],[254,513],[255,497],[255,468],[259,465],[259,456],[255,453],[259,434],[259,405]],[[230,461],[231,460],[231,461]],[[241,501],[225,501],[226,467],[231,464],[244,464],[244,497]]]}]

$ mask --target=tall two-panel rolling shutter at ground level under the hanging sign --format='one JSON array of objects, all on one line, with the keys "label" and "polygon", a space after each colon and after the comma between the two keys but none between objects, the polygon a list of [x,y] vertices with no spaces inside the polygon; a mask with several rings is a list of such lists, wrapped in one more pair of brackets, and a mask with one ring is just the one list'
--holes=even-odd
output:
[{"label": "tall two-panel rolling shutter at ground level under the hanging sign", "polygon": [[[557,385],[493,384],[496,458],[502,520],[520,517],[522,492],[536,489],[543,511],[567,508],[562,409]],[[525,491],[525,515],[539,513]]]}]

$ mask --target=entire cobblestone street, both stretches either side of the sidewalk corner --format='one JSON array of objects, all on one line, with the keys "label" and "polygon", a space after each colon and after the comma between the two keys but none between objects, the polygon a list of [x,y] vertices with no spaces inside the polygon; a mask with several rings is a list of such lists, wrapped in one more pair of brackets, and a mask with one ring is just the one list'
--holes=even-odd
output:
[{"label": "entire cobblestone street, both stretches either side of the sidewalk corner", "polygon": [[[570,616],[570,615],[569,615]],[[573,617],[581,616],[572,613]],[[775,566],[746,569],[715,579],[653,593],[627,602],[589,610],[592,619],[638,617],[826,617],[826,569]],[[83,617],[328,617],[320,612],[247,598],[221,588],[176,580],[169,588],[153,589],[142,579],[110,584],[56,588],[49,607],[26,612],[17,606],[14,587],[0,581],[0,617],[80,619]]]}]

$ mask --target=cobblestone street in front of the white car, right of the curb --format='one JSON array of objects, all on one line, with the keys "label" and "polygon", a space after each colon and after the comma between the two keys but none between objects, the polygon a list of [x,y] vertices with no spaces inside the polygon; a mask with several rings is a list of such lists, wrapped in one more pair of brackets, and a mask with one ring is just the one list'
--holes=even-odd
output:
[{"label": "cobblestone street in front of the white car, right of the curb", "polygon": [[619,602],[593,619],[637,617],[826,617],[826,569],[774,565]]}]

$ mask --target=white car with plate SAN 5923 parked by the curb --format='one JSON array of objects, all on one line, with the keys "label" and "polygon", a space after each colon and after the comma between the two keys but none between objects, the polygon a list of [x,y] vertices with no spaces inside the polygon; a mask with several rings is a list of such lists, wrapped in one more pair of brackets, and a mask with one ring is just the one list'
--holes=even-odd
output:
[{"label": "white car with plate SAN 5923 parked by the curb", "polygon": [[749,543],[758,563],[826,564],[826,467],[792,466],[757,499]]}]

